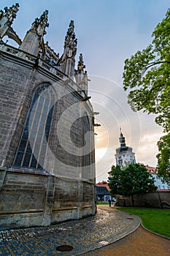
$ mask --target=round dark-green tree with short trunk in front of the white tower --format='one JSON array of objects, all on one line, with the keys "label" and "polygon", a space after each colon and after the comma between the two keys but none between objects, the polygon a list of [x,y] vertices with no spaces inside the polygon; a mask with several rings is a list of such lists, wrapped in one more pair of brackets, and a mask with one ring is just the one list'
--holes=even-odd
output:
[{"label": "round dark-green tree with short trunk in front of the white tower", "polygon": [[147,192],[156,191],[154,178],[144,165],[131,164],[126,168],[119,165],[112,166],[109,177],[109,189],[111,195],[129,195],[134,206],[134,195],[144,195]]}]

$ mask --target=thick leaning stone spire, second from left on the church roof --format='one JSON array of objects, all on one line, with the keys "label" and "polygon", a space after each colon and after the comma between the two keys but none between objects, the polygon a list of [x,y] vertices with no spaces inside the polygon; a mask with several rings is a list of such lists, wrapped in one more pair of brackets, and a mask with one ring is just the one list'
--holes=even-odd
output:
[{"label": "thick leaning stone spire, second from left on the church roof", "polygon": [[26,37],[20,45],[21,50],[25,50],[35,56],[38,55],[40,47],[44,48],[44,35],[46,34],[48,11],[45,10],[40,18],[36,18],[32,23],[31,29],[27,32]]}]

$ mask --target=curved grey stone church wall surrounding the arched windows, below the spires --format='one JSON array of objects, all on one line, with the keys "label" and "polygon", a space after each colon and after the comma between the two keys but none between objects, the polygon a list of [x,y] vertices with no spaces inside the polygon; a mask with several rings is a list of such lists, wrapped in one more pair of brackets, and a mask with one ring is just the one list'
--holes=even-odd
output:
[{"label": "curved grey stone church wall surrounding the arched windows, below the spires", "polygon": [[[84,146],[83,134],[82,138],[78,136],[82,127],[75,123],[77,116],[88,116],[88,125],[93,132],[93,108],[90,102],[81,102],[85,95],[62,72],[45,68],[43,62],[39,62],[39,67],[35,69],[34,56],[4,44],[0,47],[1,229],[50,225],[95,214],[94,141],[93,137],[90,138],[92,150],[85,166],[83,152],[80,156],[77,154]],[[43,83],[53,86],[57,98],[49,142],[50,153],[42,171],[18,168],[14,166],[14,160],[20,137],[34,91]],[[61,125],[62,141],[59,141],[57,127],[63,113],[66,116]],[[74,146],[77,151],[74,151]],[[67,148],[74,154],[66,152]]]}]

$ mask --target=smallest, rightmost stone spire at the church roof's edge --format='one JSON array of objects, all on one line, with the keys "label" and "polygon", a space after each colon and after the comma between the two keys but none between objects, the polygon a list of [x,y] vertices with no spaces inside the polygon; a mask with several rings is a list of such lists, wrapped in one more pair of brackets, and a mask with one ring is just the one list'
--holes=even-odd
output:
[{"label": "smallest, rightmost stone spire at the church roof's edge", "polygon": [[85,64],[80,53],[77,70],[75,70],[75,79],[85,94],[88,94],[88,72],[85,69]]}]

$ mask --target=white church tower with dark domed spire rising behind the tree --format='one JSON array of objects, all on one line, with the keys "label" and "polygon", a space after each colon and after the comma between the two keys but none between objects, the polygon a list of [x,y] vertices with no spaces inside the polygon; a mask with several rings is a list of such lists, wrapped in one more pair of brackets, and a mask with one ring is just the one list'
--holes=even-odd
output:
[{"label": "white church tower with dark domed spire rising behind the tree", "polygon": [[116,165],[127,166],[132,163],[136,164],[136,159],[131,147],[125,146],[125,137],[120,129],[120,148],[116,148]]}]

